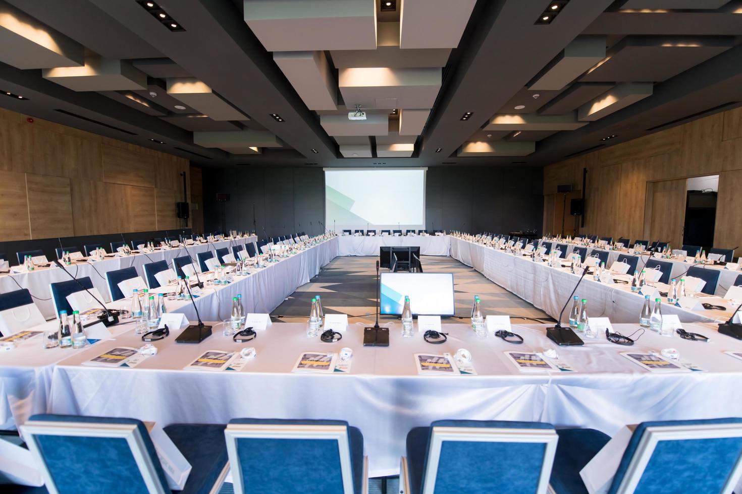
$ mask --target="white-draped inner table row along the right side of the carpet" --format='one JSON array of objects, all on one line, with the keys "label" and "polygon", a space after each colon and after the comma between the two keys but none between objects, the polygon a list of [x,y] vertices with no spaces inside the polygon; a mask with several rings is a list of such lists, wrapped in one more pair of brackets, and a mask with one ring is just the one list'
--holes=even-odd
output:
[{"label": "white-draped inner table row along the right side of the carpet", "polygon": [[[570,273],[568,268],[550,267],[541,261],[531,261],[530,257],[515,256],[473,241],[451,236],[451,257],[471,266],[487,279],[505,290],[519,296],[553,318],[569,301],[579,275]],[[613,323],[633,323],[639,321],[644,297],[632,293],[628,284],[606,284],[594,281],[591,275],[585,276],[574,293],[588,301],[588,315],[607,317]],[[726,321],[736,306],[719,298],[701,299],[712,304],[722,305],[725,310],[687,310],[671,304],[662,304],[663,315],[676,314],[683,322]],[[568,321],[567,310],[562,322]]]}]

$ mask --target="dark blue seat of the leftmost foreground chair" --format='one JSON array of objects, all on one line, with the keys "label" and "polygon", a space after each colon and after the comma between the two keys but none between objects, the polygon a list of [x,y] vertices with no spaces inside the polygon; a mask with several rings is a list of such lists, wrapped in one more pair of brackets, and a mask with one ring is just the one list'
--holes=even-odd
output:
[{"label": "dark blue seat of the leftmost foreground chair", "polygon": [[188,481],[180,492],[209,493],[228,461],[223,425],[171,424],[164,428],[173,444],[191,464]]}]

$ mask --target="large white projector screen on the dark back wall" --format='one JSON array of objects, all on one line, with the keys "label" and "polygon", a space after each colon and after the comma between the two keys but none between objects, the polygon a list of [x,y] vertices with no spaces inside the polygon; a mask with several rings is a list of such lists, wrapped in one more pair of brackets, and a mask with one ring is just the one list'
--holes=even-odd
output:
[{"label": "large white projector screen on the dark back wall", "polygon": [[427,168],[325,168],[325,225],[342,230],[425,228]]}]

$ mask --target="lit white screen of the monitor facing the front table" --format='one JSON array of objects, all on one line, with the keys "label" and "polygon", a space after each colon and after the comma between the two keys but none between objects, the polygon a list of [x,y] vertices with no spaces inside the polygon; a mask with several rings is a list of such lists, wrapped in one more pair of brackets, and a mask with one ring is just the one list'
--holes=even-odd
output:
[{"label": "lit white screen of the monitor facing the front table", "polygon": [[413,315],[453,316],[453,273],[381,273],[381,314],[401,314],[404,296]]}]

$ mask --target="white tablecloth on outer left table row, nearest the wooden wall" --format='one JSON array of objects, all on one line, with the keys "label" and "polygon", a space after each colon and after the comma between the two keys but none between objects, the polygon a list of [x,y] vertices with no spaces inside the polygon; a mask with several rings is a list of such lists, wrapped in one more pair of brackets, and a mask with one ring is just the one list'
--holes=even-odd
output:
[{"label": "white tablecloth on outer left table row, nearest the wooden wall", "polygon": [[[108,273],[108,271],[120,270],[124,267],[134,266],[137,269],[139,276],[141,276],[146,282],[143,268],[145,264],[163,260],[171,263],[174,258],[190,254],[191,258],[194,260],[194,264],[197,265],[197,253],[206,252],[206,250],[211,249],[220,249],[222,247],[231,247],[234,244],[244,245],[256,240],[256,236],[250,236],[236,238],[234,240],[213,242],[211,244],[194,244],[189,245],[188,247],[156,250],[154,253],[106,258],[103,261],[90,261],[89,263],[73,263],[71,266],[65,266],[65,268],[76,278],[85,278],[85,276],[90,277],[93,282],[93,287],[96,287],[101,296],[105,299],[104,301],[108,302],[111,301],[111,297],[108,295],[108,282],[105,280],[105,273]],[[231,252],[232,250],[230,249],[230,253]],[[19,285],[22,288],[27,288],[31,295],[36,297],[33,301],[36,306],[39,307],[39,310],[41,310],[42,315],[45,318],[50,319],[55,318],[56,314],[54,314],[54,304],[50,298],[51,293],[49,285],[59,281],[70,281],[70,279],[71,278],[67,273],[60,270],[59,267],[56,267],[56,264],[52,263],[50,267],[37,268],[30,273],[0,275],[0,293],[19,290]]]}]

